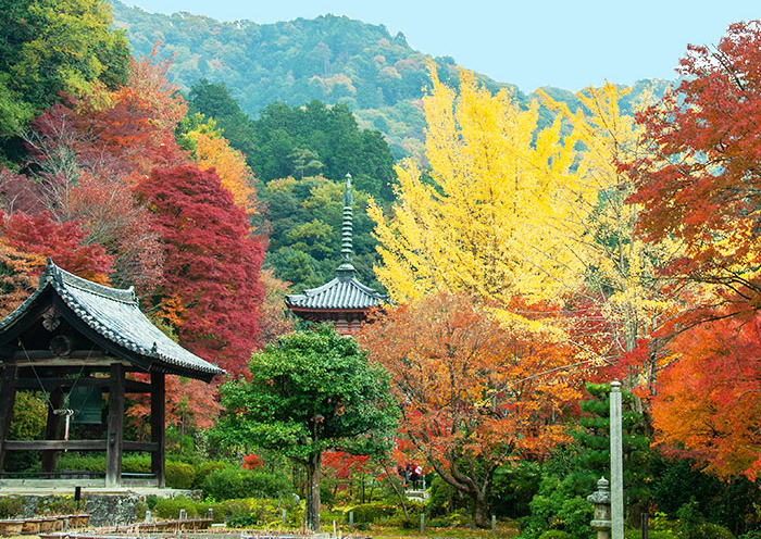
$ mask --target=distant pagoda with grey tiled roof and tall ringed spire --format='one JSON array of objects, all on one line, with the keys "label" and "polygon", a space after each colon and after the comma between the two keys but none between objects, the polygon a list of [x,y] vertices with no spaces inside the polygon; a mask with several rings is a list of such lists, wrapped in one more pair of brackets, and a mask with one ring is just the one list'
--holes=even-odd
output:
[{"label": "distant pagoda with grey tiled roof and tall ringed spire", "polygon": [[388,300],[374,289],[357,280],[357,271],[351,264],[352,211],[351,175],[346,175],[344,193],[344,224],[341,227],[341,263],[336,277],[317,288],[300,294],[286,296],[286,305],[297,316],[312,322],[327,322],[340,335],[359,331],[367,312]]}]

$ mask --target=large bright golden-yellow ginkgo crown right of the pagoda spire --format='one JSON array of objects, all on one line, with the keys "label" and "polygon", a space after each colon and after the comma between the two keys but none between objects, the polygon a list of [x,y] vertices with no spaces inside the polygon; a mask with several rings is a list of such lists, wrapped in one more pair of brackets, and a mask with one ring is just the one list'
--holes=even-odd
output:
[{"label": "large bright golden-yellow ginkgo crown right of the pagoda spire", "polygon": [[[378,279],[395,302],[462,290],[507,303],[553,300],[578,284],[583,261],[565,248],[577,200],[594,191],[572,165],[575,136],[560,121],[536,137],[538,104],[522,110],[507,91],[491,95],[461,72],[459,93],[429,65],[425,177],[397,167],[389,215],[371,205],[383,265]],[[581,234],[581,230],[579,230]]]}]

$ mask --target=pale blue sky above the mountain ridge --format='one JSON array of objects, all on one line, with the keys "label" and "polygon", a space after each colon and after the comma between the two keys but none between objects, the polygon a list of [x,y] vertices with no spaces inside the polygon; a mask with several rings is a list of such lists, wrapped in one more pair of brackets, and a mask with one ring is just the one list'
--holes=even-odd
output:
[{"label": "pale blue sky above the mountain ridge", "polygon": [[257,23],[332,13],[402,32],[414,49],[531,92],[606,79],[675,77],[687,43],[715,45],[731,23],[761,18],[761,0],[123,0]]}]

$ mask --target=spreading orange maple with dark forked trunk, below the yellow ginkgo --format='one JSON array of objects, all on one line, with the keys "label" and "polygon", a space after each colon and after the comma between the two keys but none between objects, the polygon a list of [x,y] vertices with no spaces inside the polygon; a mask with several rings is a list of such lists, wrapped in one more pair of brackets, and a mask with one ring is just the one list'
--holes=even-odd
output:
[{"label": "spreading orange maple with dark forked trunk, below the yellow ginkgo", "polygon": [[500,324],[466,296],[427,297],[373,322],[360,341],[391,374],[404,437],[487,526],[497,466],[542,457],[565,439],[572,353],[535,325]]}]

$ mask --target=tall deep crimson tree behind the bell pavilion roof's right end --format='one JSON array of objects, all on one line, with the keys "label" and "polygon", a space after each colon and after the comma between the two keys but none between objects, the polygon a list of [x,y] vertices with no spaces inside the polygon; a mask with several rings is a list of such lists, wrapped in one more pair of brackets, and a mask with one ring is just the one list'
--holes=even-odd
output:
[{"label": "tall deep crimson tree behind the bell pavilion roof's right end", "polygon": [[249,236],[244,210],[212,170],[154,170],[137,192],[165,246],[159,306],[179,322],[184,346],[241,374],[260,346],[263,239]]}]

